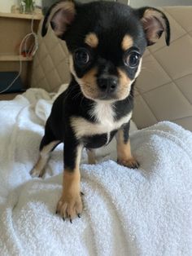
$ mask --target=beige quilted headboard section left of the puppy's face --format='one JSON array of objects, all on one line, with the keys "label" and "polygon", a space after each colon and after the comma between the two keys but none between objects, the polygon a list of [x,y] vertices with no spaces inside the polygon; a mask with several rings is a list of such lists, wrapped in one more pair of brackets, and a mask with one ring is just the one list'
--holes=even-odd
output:
[{"label": "beige quilted headboard section left of the puppy's face", "polygon": [[51,29],[45,38],[41,38],[41,24],[38,44],[38,51],[33,60],[31,86],[49,92],[57,91],[59,86],[70,80],[67,46],[55,37]]}]

